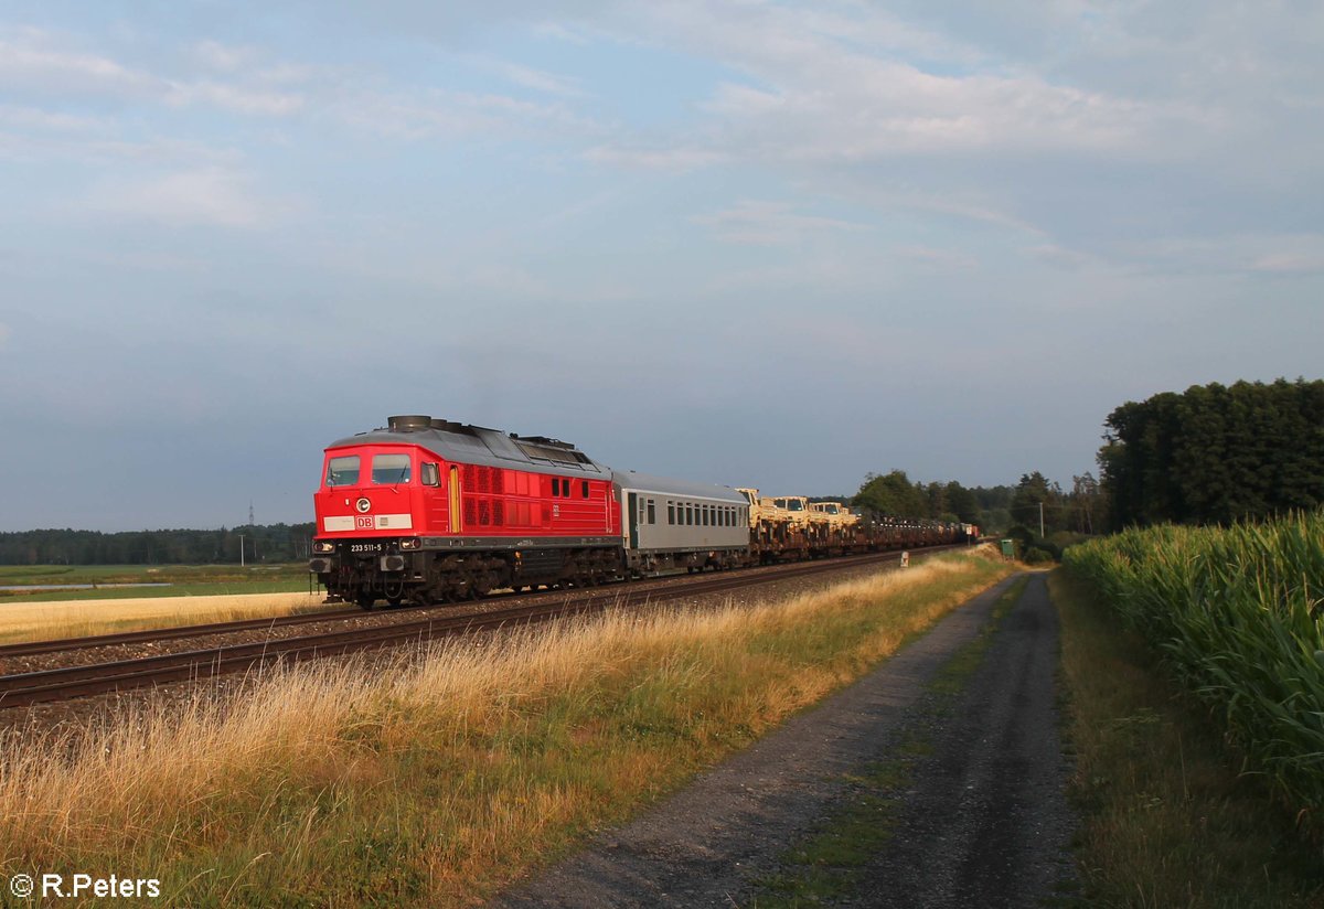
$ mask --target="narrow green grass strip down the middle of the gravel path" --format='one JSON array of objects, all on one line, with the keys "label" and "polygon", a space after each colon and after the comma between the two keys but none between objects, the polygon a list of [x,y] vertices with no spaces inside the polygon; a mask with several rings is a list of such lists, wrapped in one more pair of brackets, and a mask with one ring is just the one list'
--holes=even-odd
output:
[{"label": "narrow green grass strip down the middle of the gravel path", "polygon": [[753,902],[757,909],[810,906],[867,896],[858,893],[862,875],[892,839],[902,797],[912,786],[919,765],[933,754],[932,720],[952,712],[984,662],[998,623],[1019,602],[1027,584],[1029,577],[1012,584],[993,605],[989,622],[978,636],[957,650],[925,685],[929,697],[916,705],[891,757],[850,775],[846,779],[849,795],[804,842],[786,849],[781,871],[760,884]]}]

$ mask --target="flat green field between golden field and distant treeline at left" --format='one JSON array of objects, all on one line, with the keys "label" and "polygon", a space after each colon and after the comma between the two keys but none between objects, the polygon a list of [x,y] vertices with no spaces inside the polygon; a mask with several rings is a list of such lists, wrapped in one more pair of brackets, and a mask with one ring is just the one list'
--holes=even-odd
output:
[{"label": "flat green field between golden field and distant treeline at left", "polygon": [[[226,597],[252,593],[307,593],[305,562],[287,565],[0,565],[0,586],[9,585],[117,585],[163,584],[162,587],[62,590],[0,590],[7,603],[64,602],[69,599],[122,599],[143,597]],[[315,590],[315,587],[314,587]],[[4,613],[0,611],[0,625]]]}]

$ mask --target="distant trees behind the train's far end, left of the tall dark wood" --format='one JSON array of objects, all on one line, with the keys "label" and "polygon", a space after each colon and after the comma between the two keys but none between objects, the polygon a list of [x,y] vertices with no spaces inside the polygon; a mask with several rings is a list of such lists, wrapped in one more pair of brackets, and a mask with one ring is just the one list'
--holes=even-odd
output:
[{"label": "distant trees behind the train's far end, left of the tall dark wood", "polygon": [[1039,471],[1022,474],[1016,486],[965,487],[948,483],[912,483],[906,471],[869,474],[851,504],[883,515],[928,517],[977,524],[985,531],[1022,525],[1043,533],[1058,531],[1098,533],[1107,527],[1108,503],[1091,475],[1072,478],[1070,491]]}]

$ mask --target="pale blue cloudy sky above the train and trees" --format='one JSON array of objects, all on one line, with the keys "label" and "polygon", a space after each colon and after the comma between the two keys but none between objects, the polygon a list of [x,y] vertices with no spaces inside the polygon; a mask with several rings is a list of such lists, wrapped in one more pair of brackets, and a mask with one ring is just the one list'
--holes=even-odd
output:
[{"label": "pale blue cloudy sky above the train and trees", "polygon": [[0,5],[0,531],[312,519],[421,413],[1070,487],[1321,377],[1324,5]]}]

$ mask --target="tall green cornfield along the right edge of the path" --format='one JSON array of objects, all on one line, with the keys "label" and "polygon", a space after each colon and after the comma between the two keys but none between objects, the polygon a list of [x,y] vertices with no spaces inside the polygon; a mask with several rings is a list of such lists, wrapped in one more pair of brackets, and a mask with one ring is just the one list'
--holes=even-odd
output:
[{"label": "tall green cornfield along the right edge of the path", "polygon": [[1155,527],[1068,549],[1125,625],[1211,708],[1251,771],[1324,824],[1324,512]]}]

